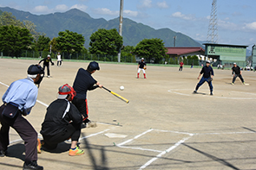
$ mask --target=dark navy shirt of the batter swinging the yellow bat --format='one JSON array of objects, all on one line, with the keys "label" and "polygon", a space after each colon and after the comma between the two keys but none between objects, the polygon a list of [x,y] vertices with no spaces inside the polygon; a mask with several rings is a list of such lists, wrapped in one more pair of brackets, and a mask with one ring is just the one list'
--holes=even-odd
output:
[{"label": "dark navy shirt of the batter swinging the yellow bat", "polygon": [[87,91],[94,90],[98,87],[98,85],[95,85],[96,83],[97,81],[91,76],[91,73],[83,68],[80,68],[76,73],[73,84],[73,88],[76,91],[75,98],[86,99]]}]

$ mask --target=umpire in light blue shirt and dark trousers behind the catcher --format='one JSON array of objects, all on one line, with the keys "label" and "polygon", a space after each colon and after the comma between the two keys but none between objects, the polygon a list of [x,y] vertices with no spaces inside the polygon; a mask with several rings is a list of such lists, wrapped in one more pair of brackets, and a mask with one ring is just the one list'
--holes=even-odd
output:
[{"label": "umpire in light blue shirt and dark trousers behind the catcher", "polygon": [[[32,125],[23,117],[30,114],[36,104],[39,85],[43,80],[43,68],[31,65],[28,77],[13,82],[3,94],[3,105],[0,107],[0,156],[6,155],[9,142],[10,127],[15,129],[25,142],[25,162],[23,170],[43,169],[37,165],[37,133]],[[36,84],[36,85],[35,85]],[[22,116],[23,115],[23,116]]]}]

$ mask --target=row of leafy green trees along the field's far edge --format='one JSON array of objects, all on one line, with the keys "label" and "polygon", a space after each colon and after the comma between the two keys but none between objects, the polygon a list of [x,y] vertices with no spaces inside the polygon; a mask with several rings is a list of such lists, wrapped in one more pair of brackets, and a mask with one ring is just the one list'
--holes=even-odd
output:
[{"label": "row of leafy green trees along the field's far edge", "polygon": [[[20,57],[23,50],[45,53],[100,54],[145,58],[148,62],[161,63],[167,59],[167,49],[161,39],[144,39],[135,47],[122,46],[122,37],[115,28],[99,28],[90,36],[89,49],[84,47],[81,34],[65,30],[50,40],[44,33],[36,32],[36,25],[30,21],[19,21],[11,13],[0,16],[0,52],[3,55]],[[44,54],[45,54],[44,53]]]}]

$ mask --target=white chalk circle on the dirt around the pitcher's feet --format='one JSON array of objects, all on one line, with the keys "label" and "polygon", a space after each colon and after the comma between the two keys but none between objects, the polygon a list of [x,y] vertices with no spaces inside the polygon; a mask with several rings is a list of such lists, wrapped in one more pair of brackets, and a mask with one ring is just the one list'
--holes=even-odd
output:
[{"label": "white chalk circle on the dirt around the pitcher's feet", "polygon": [[[186,93],[182,93],[182,92],[177,92],[177,91],[191,91],[191,89],[171,89],[168,90],[168,92],[172,92],[174,94],[178,94],[181,96],[193,96],[192,94],[186,94]],[[217,91],[221,91],[221,90],[217,90]],[[233,91],[233,92],[239,92],[239,93],[244,93],[244,94],[249,94],[249,95],[256,95],[255,93],[249,93],[249,92],[243,92],[243,91]],[[233,100],[253,100],[256,98],[235,98],[235,97],[217,97],[217,96],[209,96],[209,95],[201,95],[201,97],[208,97],[208,98],[222,98],[222,99],[233,99]]]}]

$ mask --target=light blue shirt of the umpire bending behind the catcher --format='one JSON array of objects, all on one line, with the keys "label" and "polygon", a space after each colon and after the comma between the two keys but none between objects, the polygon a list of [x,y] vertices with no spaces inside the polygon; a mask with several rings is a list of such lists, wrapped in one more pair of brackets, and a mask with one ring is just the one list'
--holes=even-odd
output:
[{"label": "light blue shirt of the umpire bending behind the catcher", "polygon": [[3,103],[17,104],[19,110],[29,115],[30,110],[36,104],[38,89],[33,79],[19,79],[13,82],[3,94]]}]

